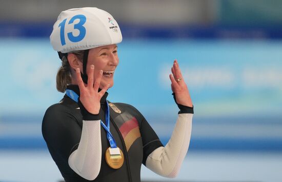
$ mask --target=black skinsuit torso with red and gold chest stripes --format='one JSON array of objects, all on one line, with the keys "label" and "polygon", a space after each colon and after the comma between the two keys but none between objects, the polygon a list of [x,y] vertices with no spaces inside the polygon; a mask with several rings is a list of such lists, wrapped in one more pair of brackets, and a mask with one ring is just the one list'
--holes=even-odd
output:
[{"label": "black skinsuit torso with red and gold chest stripes", "polygon": [[[78,86],[68,86],[79,95]],[[42,133],[48,149],[66,182],[89,181],[76,174],[68,164],[70,154],[78,147],[84,120],[99,120],[105,123],[106,93],[101,101],[99,114],[87,112],[81,103],[67,95],[60,103],[50,106],[43,118]],[[119,169],[110,168],[105,160],[105,151],[110,147],[106,131],[101,127],[102,161],[98,176],[93,181],[140,181],[140,168],[146,165],[148,155],[163,146],[143,115],[133,106],[113,103],[120,111],[110,107],[110,131],[124,153],[124,164]],[[80,109],[78,109],[78,107]]]}]

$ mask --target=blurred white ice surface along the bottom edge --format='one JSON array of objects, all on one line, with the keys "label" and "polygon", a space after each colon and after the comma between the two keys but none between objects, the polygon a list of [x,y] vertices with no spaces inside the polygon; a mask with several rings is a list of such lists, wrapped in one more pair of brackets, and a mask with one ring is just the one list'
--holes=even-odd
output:
[{"label": "blurred white ice surface along the bottom edge", "polygon": [[[282,154],[188,152],[178,176],[160,177],[144,166],[143,180],[282,181]],[[57,182],[59,173],[48,151],[0,151],[0,181]]]}]

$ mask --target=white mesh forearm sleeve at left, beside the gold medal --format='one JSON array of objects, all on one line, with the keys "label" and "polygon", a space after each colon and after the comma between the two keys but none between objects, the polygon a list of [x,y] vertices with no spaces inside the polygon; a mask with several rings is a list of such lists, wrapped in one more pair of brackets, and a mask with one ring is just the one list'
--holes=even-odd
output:
[{"label": "white mesh forearm sleeve at left, beside the gold medal", "polygon": [[78,148],[69,156],[69,166],[87,180],[95,179],[100,171],[102,156],[100,120],[83,120]]}]

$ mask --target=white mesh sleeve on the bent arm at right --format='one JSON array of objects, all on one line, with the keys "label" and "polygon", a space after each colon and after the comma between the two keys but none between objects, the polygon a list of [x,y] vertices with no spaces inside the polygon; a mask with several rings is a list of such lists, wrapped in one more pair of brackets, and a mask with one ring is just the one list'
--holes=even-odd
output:
[{"label": "white mesh sleeve on the bent arm at right", "polygon": [[147,157],[147,168],[164,177],[176,177],[188,151],[192,117],[193,114],[178,114],[170,140]]}]

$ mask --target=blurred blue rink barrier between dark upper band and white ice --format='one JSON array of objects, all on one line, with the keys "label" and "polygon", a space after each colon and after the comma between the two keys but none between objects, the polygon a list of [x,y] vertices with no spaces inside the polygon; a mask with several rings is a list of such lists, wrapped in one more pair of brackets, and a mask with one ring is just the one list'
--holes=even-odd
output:
[{"label": "blurred blue rink barrier between dark upper band and white ice", "polygon": [[[47,38],[5,39],[0,147],[46,148],[45,110],[59,102],[61,64]],[[111,102],[135,106],[166,144],[177,117],[169,73],[178,59],[194,104],[190,149],[282,151],[282,42],[125,39]]]}]

